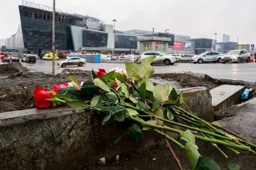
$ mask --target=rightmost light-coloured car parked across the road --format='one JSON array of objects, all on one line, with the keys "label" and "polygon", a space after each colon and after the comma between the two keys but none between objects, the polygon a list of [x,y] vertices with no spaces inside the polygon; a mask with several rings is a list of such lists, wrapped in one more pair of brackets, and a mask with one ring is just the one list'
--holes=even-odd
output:
[{"label": "rightmost light-coloured car parked across the road", "polygon": [[226,55],[222,56],[222,63],[235,62],[239,63],[241,61],[250,62],[250,53],[245,49],[236,49],[227,52]]}]

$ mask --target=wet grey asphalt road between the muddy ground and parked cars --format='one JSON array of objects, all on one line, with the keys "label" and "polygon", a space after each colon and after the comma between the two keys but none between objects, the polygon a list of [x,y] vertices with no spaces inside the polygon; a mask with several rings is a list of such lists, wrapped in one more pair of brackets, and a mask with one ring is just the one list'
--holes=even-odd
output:
[{"label": "wet grey asphalt road between the muddy ground and parked cars", "polygon": [[[24,63],[29,69],[52,73],[52,61],[38,60],[36,64]],[[198,73],[205,73],[214,78],[226,78],[226,79],[240,79],[245,81],[256,82],[256,62],[241,62],[241,63],[176,63],[174,65],[153,65],[156,73],[170,73],[181,71],[192,71]],[[113,67],[125,68],[123,63],[87,63],[82,67],[67,66],[70,69],[83,69],[95,71],[98,68],[104,68],[106,71]],[[55,66],[55,73],[60,73],[64,68]]]}]

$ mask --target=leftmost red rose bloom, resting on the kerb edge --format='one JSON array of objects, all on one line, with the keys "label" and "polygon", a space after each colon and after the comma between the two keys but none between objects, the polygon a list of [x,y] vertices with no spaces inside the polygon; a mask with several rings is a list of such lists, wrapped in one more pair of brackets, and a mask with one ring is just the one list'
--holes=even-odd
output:
[{"label": "leftmost red rose bloom, resting on the kerb edge", "polygon": [[52,101],[46,100],[53,98],[51,91],[48,91],[46,88],[38,87],[34,90],[34,96],[37,108],[45,108],[54,104]]}]

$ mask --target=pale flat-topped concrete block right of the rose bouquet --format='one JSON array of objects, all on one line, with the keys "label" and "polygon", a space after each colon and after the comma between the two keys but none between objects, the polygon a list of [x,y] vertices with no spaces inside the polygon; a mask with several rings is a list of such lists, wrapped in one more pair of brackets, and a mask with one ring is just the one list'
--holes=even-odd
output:
[{"label": "pale flat-topped concrete block right of the rose bouquet", "polygon": [[244,86],[224,84],[211,89],[213,111],[222,110],[237,104],[244,88]]}]

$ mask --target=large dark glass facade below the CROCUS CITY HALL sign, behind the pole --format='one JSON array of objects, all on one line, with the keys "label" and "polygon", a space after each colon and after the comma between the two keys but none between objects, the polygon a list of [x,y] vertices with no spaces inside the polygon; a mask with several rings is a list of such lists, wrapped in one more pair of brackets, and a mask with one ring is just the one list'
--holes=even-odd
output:
[{"label": "large dark glass facade below the CROCUS CITY HALL sign, behind the pole", "polygon": [[[52,49],[52,21],[21,16],[24,47]],[[73,49],[70,25],[55,23],[56,49]]]}]

